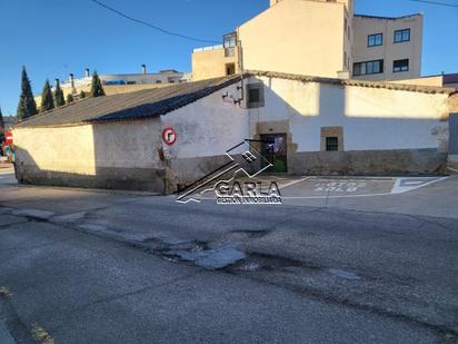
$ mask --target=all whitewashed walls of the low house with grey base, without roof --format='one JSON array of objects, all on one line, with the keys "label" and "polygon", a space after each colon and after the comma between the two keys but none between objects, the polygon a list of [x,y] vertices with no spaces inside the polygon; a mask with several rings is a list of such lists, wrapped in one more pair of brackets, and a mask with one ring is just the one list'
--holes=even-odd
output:
[{"label": "all whitewashed walls of the low house with grey base, without roof", "polygon": [[[168,193],[220,167],[228,149],[261,134],[286,134],[290,174],[432,174],[445,168],[446,94],[275,77],[243,82],[262,82],[262,107],[235,102],[243,92],[236,82],[160,118],[14,128],[19,180]],[[169,126],[178,136],[170,147],[161,140]],[[322,151],[323,132],[339,136],[340,151]]]}]

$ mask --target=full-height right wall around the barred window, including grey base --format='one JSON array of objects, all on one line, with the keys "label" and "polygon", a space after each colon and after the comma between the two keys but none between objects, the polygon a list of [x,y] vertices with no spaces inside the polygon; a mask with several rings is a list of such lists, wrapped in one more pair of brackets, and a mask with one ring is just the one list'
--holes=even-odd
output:
[{"label": "full-height right wall around the barred window, including grey base", "polygon": [[[249,110],[251,136],[285,132],[276,129],[279,122],[285,124],[290,173],[335,173],[338,166],[345,173],[350,163],[355,166],[355,174],[432,173],[445,163],[448,95],[279,78],[249,80],[259,81],[265,83],[266,101],[265,107]],[[265,132],[258,132],[259,122]],[[323,127],[342,128],[344,150],[347,153],[320,153]],[[349,156],[348,151],[362,153]],[[389,151],[397,158],[387,159]],[[358,159],[371,163],[355,165]]]}]

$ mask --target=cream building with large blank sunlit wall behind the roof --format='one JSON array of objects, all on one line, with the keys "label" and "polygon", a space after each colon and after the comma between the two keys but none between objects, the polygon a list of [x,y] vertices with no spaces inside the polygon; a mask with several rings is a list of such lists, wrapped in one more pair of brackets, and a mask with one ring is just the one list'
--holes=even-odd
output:
[{"label": "cream building with large blank sunlit wall behind the roof", "polygon": [[271,0],[262,13],[223,37],[223,45],[195,49],[192,79],[243,70],[337,77],[351,66],[354,0]]}]

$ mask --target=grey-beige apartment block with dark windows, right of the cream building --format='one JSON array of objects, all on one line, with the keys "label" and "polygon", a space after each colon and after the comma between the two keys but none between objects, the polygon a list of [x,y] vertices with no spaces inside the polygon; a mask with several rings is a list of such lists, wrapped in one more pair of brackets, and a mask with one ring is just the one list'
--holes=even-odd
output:
[{"label": "grey-beige apartment block with dark windows, right of the cream building", "polygon": [[421,75],[422,14],[400,18],[354,17],[352,76],[399,80]]}]

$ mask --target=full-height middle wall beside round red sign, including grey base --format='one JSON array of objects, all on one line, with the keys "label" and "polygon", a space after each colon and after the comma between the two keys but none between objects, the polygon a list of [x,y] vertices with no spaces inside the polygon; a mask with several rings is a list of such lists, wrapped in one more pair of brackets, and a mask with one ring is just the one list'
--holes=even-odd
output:
[{"label": "full-height middle wall beside round red sign, including grey base", "polygon": [[162,127],[173,127],[178,136],[173,146],[163,146],[177,184],[193,181],[220,167],[221,161],[228,161],[226,151],[249,138],[247,112],[233,104],[241,97],[238,85],[161,117]]}]

